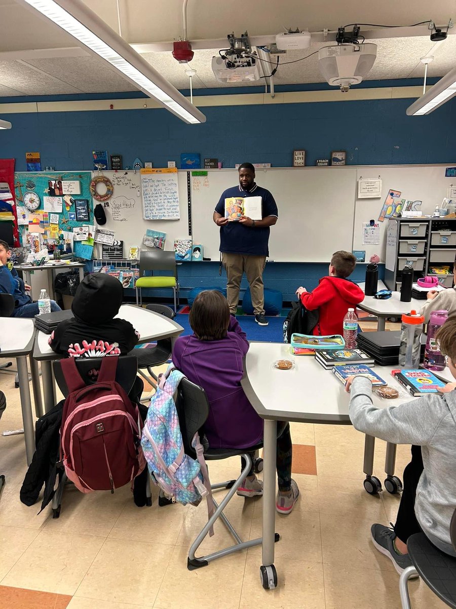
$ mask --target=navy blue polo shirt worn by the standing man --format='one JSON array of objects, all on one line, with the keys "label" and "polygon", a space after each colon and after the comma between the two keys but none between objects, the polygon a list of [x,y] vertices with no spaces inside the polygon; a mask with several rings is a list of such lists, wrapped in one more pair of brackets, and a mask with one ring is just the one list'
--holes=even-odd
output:
[{"label": "navy blue polo shirt worn by the standing man", "polygon": [[[250,191],[244,191],[241,185],[227,188],[222,192],[215,211],[225,215],[225,199],[230,197],[261,197],[263,218],[278,217],[277,205],[271,192],[254,183]],[[246,227],[240,222],[228,222],[220,227],[220,251],[230,254],[252,254],[269,256],[269,227]]]}]

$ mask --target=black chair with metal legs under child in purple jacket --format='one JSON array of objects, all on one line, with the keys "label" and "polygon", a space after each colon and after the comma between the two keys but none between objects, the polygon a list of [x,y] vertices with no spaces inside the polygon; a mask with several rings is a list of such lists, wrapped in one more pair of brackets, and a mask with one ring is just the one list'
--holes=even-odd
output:
[{"label": "black chair with metal legs under child in purple jacket", "polygon": [[[186,454],[188,454],[188,456],[196,459],[196,453],[192,448],[192,439],[197,431],[201,432],[201,430],[204,429],[204,423],[209,415],[209,401],[207,400],[206,392],[198,385],[195,385],[195,383],[188,381],[188,379],[182,379],[178,386],[176,409],[178,411],[179,426],[181,428],[182,440],[184,442],[184,451]],[[208,565],[210,561],[215,560],[216,558],[221,558],[228,554],[232,554],[233,552],[239,552],[240,550],[247,549],[248,547],[258,546],[263,541],[261,537],[250,541],[242,541],[232,524],[223,513],[223,510],[226,508],[230,499],[232,499],[233,495],[235,495],[236,491],[244,481],[244,478],[250,471],[252,460],[250,459],[249,453],[246,452],[246,449],[210,448],[206,438],[204,437],[201,438],[201,443],[204,447],[204,459],[206,459],[206,461],[215,461],[220,459],[228,459],[229,457],[241,456],[246,460],[246,466],[236,480],[229,480],[211,485],[212,490],[216,490],[218,488],[227,488],[229,491],[219,504],[215,501],[215,499],[213,499],[215,512],[208,519],[201,532],[198,533],[198,536],[196,537],[195,541],[193,541],[192,547],[190,547],[190,551],[188,552],[187,568],[190,571],[204,567]],[[249,449],[249,452],[256,451],[262,446],[263,445],[252,446],[252,448]],[[212,552],[206,556],[199,558],[196,557],[195,552],[198,550],[202,540],[204,540],[207,533],[209,533],[209,530],[212,528],[213,524],[218,518],[222,519],[236,543],[232,546],[224,548],[223,550]],[[275,541],[278,541],[278,539],[278,533],[275,533]]]}]

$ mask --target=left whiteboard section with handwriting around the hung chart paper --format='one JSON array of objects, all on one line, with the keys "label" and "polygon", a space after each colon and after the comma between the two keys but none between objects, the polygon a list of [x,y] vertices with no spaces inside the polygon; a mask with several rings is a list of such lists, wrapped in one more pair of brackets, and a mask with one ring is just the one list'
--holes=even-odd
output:
[{"label": "left whiteboard section with handwriting around the hung chart paper", "polygon": [[[112,181],[114,192],[109,199],[109,206],[105,207],[106,224],[102,228],[112,230],[115,239],[123,241],[123,257],[128,258],[130,247],[140,247],[142,238],[147,230],[159,230],[167,233],[165,250],[174,249],[174,239],[188,238],[188,211],[187,211],[187,172],[179,172],[179,220],[144,220],[141,194],[141,174],[139,171],[105,171],[103,172]],[[93,175],[97,175],[94,172]],[[97,202],[94,201],[94,205]],[[102,248],[99,247],[98,257],[101,258]]]}]

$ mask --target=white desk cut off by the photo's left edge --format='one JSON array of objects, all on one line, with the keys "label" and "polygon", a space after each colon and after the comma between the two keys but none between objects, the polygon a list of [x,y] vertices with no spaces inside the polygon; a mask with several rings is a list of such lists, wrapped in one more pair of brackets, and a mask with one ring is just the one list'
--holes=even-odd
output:
[{"label": "white desk cut off by the photo's left edge", "polygon": [[[32,319],[22,319],[20,317],[0,318],[0,357],[16,357],[18,364],[19,392],[21,395],[22,421],[24,422],[27,465],[30,465],[32,462],[33,453],[35,452],[35,429],[33,427],[29,369],[27,367],[27,357],[32,353],[34,340],[35,327],[33,326]],[[35,403],[37,404],[37,414],[39,414],[40,406],[38,404],[41,404],[39,382],[38,385],[35,385],[35,382],[33,383],[34,391],[36,386],[38,387],[38,392],[35,392]]]}]

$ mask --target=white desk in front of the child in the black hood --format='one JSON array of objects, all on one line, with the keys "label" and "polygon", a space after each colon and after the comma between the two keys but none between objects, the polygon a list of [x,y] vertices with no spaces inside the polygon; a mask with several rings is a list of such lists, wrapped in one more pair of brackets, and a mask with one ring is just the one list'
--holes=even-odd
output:
[{"label": "white desk in front of the child in the black hood", "polygon": [[[136,305],[122,305],[116,317],[130,322],[139,332],[139,344],[165,338],[170,338],[171,342],[173,342],[184,331],[184,328],[172,319],[168,319],[168,317],[154,311],[137,307]],[[61,357],[52,351],[48,341],[49,334],[38,332],[33,349],[33,358],[41,362],[44,409],[46,412],[54,408],[56,401],[51,362]]]}]

